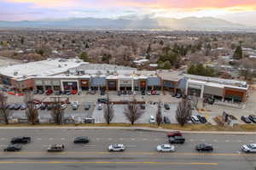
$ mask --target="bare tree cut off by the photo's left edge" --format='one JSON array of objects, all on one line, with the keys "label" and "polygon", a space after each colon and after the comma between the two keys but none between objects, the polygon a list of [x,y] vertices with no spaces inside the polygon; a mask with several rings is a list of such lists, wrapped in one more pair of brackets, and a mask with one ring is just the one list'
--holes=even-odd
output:
[{"label": "bare tree cut off by the photo's left edge", "polygon": [[9,111],[8,105],[7,105],[7,99],[8,97],[3,94],[3,92],[0,93],[0,116],[3,117],[3,121],[5,124],[9,124],[9,116],[11,116],[12,112]]}]

